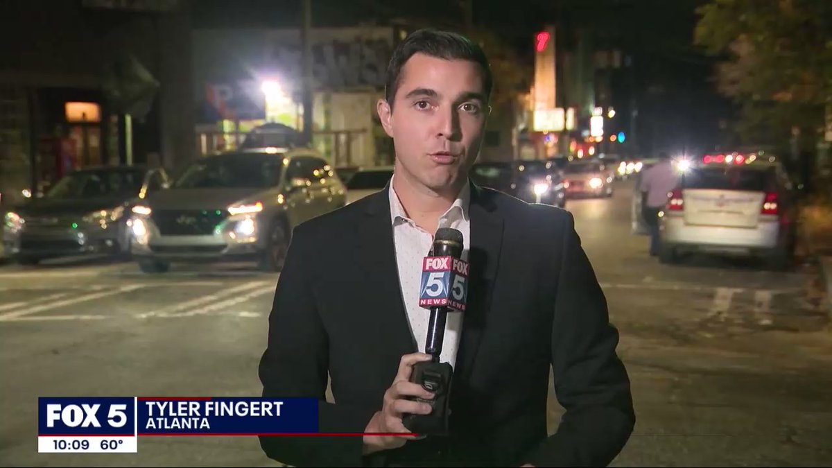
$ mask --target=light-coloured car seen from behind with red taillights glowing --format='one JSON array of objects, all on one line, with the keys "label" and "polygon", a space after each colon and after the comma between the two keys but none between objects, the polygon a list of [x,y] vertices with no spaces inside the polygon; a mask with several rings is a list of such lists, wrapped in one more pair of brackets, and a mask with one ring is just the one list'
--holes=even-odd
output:
[{"label": "light-coloured car seen from behind with red taillights glowing", "polygon": [[741,155],[703,160],[682,172],[668,196],[660,220],[660,260],[671,263],[682,252],[706,251],[761,256],[772,269],[785,269],[794,252],[797,212],[783,167]]}]

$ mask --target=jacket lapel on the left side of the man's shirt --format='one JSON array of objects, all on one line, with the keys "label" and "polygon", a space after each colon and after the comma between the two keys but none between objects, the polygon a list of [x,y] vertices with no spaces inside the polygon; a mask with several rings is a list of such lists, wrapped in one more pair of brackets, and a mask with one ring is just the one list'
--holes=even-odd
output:
[{"label": "jacket lapel on the left side of the man's shirt", "polygon": [[359,227],[359,265],[355,274],[373,273],[369,277],[366,294],[373,297],[368,304],[375,315],[374,323],[379,326],[379,340],[383,349],[394,355],[395,362],[405,354],[418,351],[410,333],[407,311],[402,300],[399,267],[396,264],[393,222],[390,219],[389,183],[384,191],[369,196],[364,211],[364,220]]}]

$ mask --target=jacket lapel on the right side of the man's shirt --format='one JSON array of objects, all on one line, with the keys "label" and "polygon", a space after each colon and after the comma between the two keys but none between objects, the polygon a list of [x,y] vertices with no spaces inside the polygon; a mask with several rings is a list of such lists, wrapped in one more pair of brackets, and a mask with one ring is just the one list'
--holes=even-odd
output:
[{"label": "jacket lapel on the right side of the man's shirt", "polygon": [[453,386],[460,391],[466,386],[473,371],[479,342],[491,307],[493,284],[503,244],[503,218],[496,212],[488,192],[473,183],[468,212],[471,220],[468,305],[464,312],[462,337],[453,372]]}]

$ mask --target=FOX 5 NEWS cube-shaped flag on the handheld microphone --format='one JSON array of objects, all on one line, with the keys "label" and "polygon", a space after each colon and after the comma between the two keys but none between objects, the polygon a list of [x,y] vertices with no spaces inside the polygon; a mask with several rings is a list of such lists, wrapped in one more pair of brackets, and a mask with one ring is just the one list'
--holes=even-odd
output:
[{"label": "FOX 5 NEWS cube-shaped flag on the handheld microphone", "polygon": [[422,262],[422,285],[418,305],[447,306],[465,311],[468,299],[468,263],[453,256],[426,256]]}]

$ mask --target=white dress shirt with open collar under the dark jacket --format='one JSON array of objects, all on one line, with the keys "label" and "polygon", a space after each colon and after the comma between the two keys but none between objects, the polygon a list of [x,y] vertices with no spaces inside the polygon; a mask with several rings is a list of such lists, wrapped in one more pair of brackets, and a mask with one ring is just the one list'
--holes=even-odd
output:
[{"label": "white dress shirt with open collar under the dark jacket", "polygon": [[[416,223],[405,215],[404,207],[399,202],[399,196],[396,195],[392,183],[390,184],[389,197],[402,299],[407,309],[411,335],[416,341],[418,351],[424,352],[425,341],[428,337],[430,310],[419,307],[418,296],[422,281],[422,259],[428,256],[430,247],[433,245],[433,234],[416,226]],[[464,261],[468,261],[468,249],[471,245],[471,223],[468,219],[470,200],[471,188],[466,183],[457,200],[439,218],[438,224],[438,227],[453,227],[463,233],[462,258]],[[459,337],[463,326],[463,314],[448,312],[447,317],[442,354],[439,361],[448,362],[451,366],[455,366]]]}]

